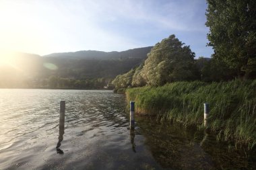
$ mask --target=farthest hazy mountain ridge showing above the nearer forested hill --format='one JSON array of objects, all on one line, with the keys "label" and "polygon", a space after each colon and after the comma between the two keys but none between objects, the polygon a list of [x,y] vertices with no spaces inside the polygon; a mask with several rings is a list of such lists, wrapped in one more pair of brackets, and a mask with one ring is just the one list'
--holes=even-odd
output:
[{"label": "farthest hazy mountain ridge showing above the nearer forested hill", "polygon": [[59,52],[45,55],[44,57],[69,58],[69,59],[96,59],[96,60],[117,60],[127,58],[146,58],[152,46],[143,48],[134,48],[122,52],[103,52],[96,50],[82,50],[77,52]]}]

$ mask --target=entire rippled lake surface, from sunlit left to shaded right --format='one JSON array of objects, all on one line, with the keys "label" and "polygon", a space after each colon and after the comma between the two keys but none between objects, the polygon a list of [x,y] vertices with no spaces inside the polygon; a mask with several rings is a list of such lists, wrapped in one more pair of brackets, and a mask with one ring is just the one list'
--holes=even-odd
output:
[{"label": "entire rippled lake surface, from sunlit left to shaded right", "polygon": [[[0,169],[256,169],[255,152],[136,116],[112,91],[0,89]],[[65,130],[59,102],[65,100]]]}]

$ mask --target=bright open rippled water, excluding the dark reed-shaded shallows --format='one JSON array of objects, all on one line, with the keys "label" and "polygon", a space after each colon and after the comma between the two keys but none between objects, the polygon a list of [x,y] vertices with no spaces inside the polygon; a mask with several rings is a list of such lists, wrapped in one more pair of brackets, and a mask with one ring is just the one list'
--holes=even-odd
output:
[{"label": "bright open rippled water, excluding the dark reed-shaded shallows", "polygon": [[161,169],[145,138],[127,130],[123,95],[42,89],[0,89],[0,95],[0,169]]}]

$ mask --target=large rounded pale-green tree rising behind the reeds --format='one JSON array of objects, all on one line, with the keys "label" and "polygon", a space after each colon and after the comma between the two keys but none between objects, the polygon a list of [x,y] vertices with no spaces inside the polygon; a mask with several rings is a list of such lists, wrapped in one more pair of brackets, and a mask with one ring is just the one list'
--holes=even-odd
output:
[{"label": "large rounded pale-green tree rising behind the reeds", "polygon": [[148,53],[141,75],[148,85],[191,80],[194,78],[194,57],[195,53],[189,46],[171,35],[157,43]]}]

